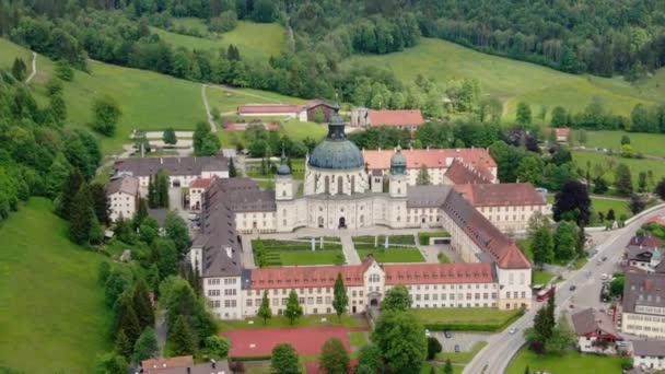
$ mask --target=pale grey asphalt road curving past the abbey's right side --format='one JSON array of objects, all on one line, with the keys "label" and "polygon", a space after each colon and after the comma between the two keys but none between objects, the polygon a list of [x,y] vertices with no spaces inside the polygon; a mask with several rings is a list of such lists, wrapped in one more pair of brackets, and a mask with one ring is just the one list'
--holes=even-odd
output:
[{"label": "pale grey asphalt road curving past the abbey's right side", "polygon": [[[581,306],[602,306],[599,302],[599,291],[603,282],[600,276],[603,273],[611,274],[617,269],[616,259],[622,256],[626,245],[642,223],[649,218],[662,213],[665,213],[665,208],[653,211],[623,229],[616,230],[605,243],[599,245],[598,254],[590,259],[582,269],[564,273],[565,280],[557,284],[557,312],[570,309],[571,304],[575,305],[576,308]],[[596,260],[603,257],[607,257],[607,260],[597,265]],[[588,276],[590,272],[591,276]],[[576,285],[576,290],[571,292],[570,287],[573,284]],[[511,359],[525,343],[524,329],[533,325],[537,309],[544,304],[546,303],[534,302],[534,307],[522,318],[517,319],[503,332],[495,334],[488,339],[488,344],[464,367],[463,374],[505,373]],[[516,328],[517,331],[511,335],[509,334],[511,328]],[[532,367],[532,370],[535,369],[537,367]]]}]

